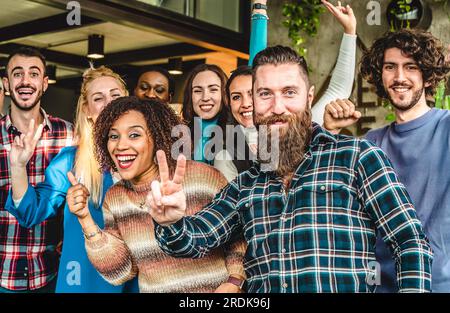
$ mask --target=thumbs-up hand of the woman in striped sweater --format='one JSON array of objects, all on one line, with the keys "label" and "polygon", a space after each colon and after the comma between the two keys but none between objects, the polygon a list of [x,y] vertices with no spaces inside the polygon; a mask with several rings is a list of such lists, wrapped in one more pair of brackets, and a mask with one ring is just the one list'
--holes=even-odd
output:
[{"label": "thumbs-up hand of the woman in striped sweater", "polygon": [[72,172],[67,173],[72,187],[67,191],[66,201],[70,212],[75,214],[79,219],[85,219],[90,216],[88,208],[89,190],[79,183]]}]

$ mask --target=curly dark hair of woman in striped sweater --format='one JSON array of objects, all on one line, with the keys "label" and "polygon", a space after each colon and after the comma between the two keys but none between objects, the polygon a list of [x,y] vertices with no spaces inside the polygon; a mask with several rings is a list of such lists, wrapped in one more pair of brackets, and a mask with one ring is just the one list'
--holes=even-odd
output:
[{"label": "curly dark hair of woman in striped sweater", "polygon": [[[184,125],[171,107],[156,99],[141,100],[137,97],[121,97],[111,101],[97,118],[94,126],[95,156],[103,169],[116,169],[108,152],[109,131],[122,115],[130,111],[142,113],[154,143],[154,153],[163,150],[171,173],[175,170],[176,160],[171,157],[172,145],[177,138],[171,131],[177,125]],[[153,158],[154,156],[152,156]]]}]

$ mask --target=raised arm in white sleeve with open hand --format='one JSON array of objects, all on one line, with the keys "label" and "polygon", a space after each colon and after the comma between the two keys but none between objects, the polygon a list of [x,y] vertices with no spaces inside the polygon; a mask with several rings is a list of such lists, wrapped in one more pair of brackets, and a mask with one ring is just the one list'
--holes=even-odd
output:
[{"label": "raised arm in white sleeve with open hand", "polygon": [[335,99],[347,99],[352,92],[355,78],[356,56],[356,18],[352,8],[347,5],[334,6],[330,2],[322,0],[322,3],[333,14],[344,29],[339,55],[333,70],[330,83],[323,96],[312,107],[313,121],[322,125],[325,106]]}]

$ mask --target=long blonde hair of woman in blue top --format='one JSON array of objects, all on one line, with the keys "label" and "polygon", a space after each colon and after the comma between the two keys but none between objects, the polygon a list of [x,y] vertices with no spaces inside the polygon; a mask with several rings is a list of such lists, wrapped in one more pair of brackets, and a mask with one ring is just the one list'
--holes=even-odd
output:
[{"label": "long blonde hair of woman in blue top", "polygon": [[78,144],[75,156],[74,172],[83,185],[91,193],[91,199],[95,207],[99,207],[103,191],[103,173],[94,155],[93,121],[88,117],[87,90],[90,83],[100,77],[112,77],[117,80],[125,96],[128,91],[123,79],[111,69],[100,66],[88,69],[83,74],[81,93],[78,98],[75,117],[75,137]]}]

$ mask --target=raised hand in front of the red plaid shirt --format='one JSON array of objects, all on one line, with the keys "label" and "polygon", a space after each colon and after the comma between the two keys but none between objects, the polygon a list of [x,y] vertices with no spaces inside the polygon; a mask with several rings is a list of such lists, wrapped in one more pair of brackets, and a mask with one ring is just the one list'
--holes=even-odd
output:
[{"label": "raised hand in front of the red plaid shirt", "polygon": [[41,138],[44,126],[40,124],[35,129],[35,121],[31,119],[28,125],[28,132],[14,138],[9,153],[9,162],[11,167],[26,167],[28,161],[33,156],[34,149]]}]

